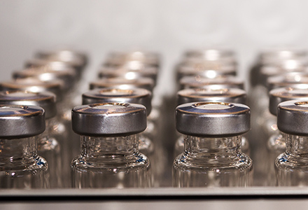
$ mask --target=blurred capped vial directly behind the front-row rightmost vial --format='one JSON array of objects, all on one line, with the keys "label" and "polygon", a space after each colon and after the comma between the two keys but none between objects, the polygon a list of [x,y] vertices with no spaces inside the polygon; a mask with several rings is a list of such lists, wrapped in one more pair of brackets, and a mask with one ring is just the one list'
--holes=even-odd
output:
[{"label": "blurred capped vial directly behind the front-row rightmost vial", "polygon": [[267,172],[268,186],[276,186],[274,162],[278,155],[286,151],[285,134],[280,132],[276,125],[277,106],[281,102],[290,100],[308,100],[308,85],[304,89],[280,87],[269,92],[269,111],[272,113],[272,119],[268,118],[267,120],[272,122],[272,125],[268,125],[270,125],[269,129],[272,129],[274,132],[267,140],[267,155],[262,157],[265,164],[265,171]]}]

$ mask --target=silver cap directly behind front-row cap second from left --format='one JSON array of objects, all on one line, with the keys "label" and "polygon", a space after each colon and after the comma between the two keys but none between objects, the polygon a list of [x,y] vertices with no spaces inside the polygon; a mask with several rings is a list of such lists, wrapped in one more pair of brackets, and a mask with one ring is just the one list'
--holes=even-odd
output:
[{"label": "silver cap directly behind front-row cap second from left", "polygon": [[151,113],[152,93],[149,90],[102,88],[94,89],[83,94],[83,104],[98,104],[105,102],[120,102],[129,104],[142,104],[146,106],[146,112]]}]

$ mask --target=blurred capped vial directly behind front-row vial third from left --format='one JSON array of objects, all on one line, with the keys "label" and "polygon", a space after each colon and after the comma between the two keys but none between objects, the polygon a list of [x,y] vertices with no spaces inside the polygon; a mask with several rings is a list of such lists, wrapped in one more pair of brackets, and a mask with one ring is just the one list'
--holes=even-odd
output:
[{"label": "blurred capped vial directly behind front-row vial third from left", "polygon": [[[203,87],[180,90],[177,94],[178,105],[193,102],[228,102],[246,104],[246,91],[238,88],[213,88]],[[174,148],[175,155],[183,153],[184,139],[181,135]],[[247,155],[250,153],[249,143],[246,137],[241,139],[241,151]]]}]

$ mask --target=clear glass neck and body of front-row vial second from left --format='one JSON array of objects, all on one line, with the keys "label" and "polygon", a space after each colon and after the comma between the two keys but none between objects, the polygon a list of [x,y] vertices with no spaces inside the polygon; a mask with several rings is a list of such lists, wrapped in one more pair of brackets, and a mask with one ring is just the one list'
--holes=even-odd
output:
[{"label": "clear glass neck and body of front-row vial second from left", "polygon": [[81,137],[81,154],[71,163],[73,188],[147,188],[150,163],[138,151],[137,134]]}]

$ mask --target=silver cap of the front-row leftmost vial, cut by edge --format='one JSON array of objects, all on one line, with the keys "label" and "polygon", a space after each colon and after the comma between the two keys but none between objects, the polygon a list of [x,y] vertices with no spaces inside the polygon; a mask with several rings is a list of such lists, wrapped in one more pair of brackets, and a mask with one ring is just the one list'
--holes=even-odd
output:
[{"label": "silver cap of the front-row leftmost vial, cut by edge", "polygon": [[0,105],[0,138],[33,137],[45,130],[45,111],[38,106]]}]

